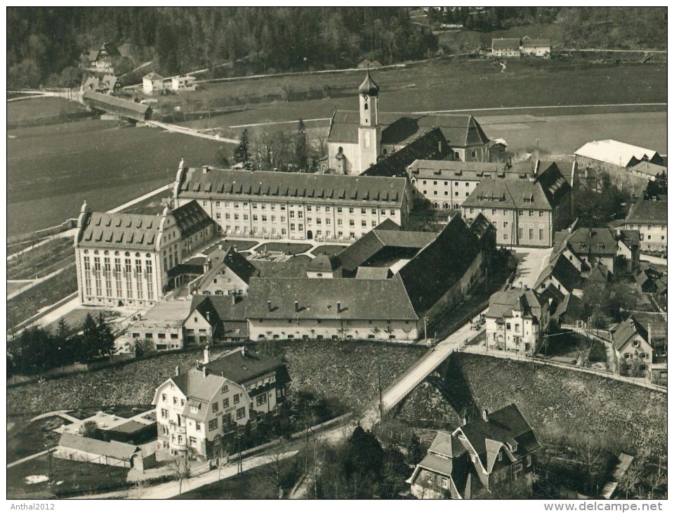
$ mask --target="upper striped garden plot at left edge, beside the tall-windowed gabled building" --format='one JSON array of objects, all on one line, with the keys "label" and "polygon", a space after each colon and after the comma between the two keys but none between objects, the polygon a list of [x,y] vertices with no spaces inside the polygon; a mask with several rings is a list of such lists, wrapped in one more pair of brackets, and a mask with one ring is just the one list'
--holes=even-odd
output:
[{"label": "upper striped garden plot at left edge, beside the tall-windowed gabled building", "polygon": [[72,238],[50,240],[44,245],[30,249],[7,262],[9,280],[28,280],[46,276],[53,271],[74,264],[75,252]]}]

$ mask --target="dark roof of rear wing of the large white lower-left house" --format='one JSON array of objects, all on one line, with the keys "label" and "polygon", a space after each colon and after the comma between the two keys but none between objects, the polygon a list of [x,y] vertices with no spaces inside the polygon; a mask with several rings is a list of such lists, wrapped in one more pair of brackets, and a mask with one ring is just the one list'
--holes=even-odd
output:
[{"label": "dark roof of rear wing of the large white lower-left house", "polygon": [[277,372],[277,382],[288,382],[290,377],[286,365],[273,358],[253,353],[246,349],[245,354],[234,350],[204,365],[209,375],[223,375],[233,382],[246,385],[269,372]]}]

